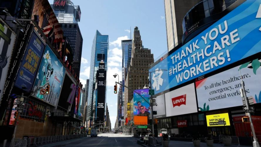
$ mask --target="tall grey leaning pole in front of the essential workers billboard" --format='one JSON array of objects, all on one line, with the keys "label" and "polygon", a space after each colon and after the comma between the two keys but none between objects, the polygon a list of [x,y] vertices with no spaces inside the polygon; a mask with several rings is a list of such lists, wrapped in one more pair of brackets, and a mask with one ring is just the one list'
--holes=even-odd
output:
[{"label": "tall grey leaning pole in front of the essential workers billboard", "polygon": [[[239,73],[240,73],[240,78],[241,78],[241,86],[243,88],[243,93],[244,93],[244,98],[245,98],[245,102],[246,102],[246,106],[247,106],[247,110],[249,110],[249,106],[248,106],[248,99],[247,99],[247,94],[246,94],[246,91],[245,91],[245,82],[243,81],[242,79],[242,75],[241,75],[241,72],[240,72],[240,68],[239,68]],[[260,147],[259,146],[259,143],[257,141],[257,138],[256,138],[256,135],[255,135],[255,128],[254,128],[254,125],[253,125],[253,122],[252,122],[252,117],[251,117],[251,114],[248,113],[248,116],[249,116],[249,121],[250,121],[250,127],[251,127],[251,130],[252,130],[252,133],[253,133],[253,147]]]}]

